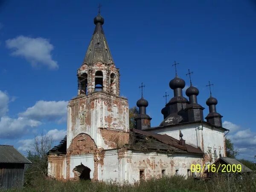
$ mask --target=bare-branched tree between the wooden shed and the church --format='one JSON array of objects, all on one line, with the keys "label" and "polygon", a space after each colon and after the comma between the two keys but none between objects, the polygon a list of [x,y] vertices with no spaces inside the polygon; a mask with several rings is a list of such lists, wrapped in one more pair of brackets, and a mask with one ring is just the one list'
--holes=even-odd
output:
[{"label": "bare-branched tree between the wooden shed and the church", "polygon": [[47,176],[48,158],[47,152],[52,148],[52,137],[46,134],[35,136],[34,143],[31,145],[31,151],[28,151],[27,158],[32,162],[26,168],[26,182],[30,182],[35,176]]}]

